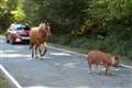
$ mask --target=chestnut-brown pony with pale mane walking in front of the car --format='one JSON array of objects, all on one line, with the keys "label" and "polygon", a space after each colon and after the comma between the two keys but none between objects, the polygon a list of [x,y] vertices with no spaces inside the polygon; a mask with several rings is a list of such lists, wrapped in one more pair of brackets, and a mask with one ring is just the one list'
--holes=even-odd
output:
[{"label": "chestnut-brown pony with pale mane walking in front of the car", "polygon": [[[32,57],[44,56],[46,53],[46,43],[48,35],[51,35],[51,28],[46,23],[41,23],[37,28],[31,28],[30,31],[30,48],[32,50]],[[44,51],[41,50],[41,45],[44,46]]]}]

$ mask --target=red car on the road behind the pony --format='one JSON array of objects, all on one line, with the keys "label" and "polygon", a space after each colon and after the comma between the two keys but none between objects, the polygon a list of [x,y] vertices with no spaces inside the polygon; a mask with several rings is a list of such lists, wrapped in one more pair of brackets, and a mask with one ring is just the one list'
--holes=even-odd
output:
[{"label": "red car on the road behind the pony", "polygon": [[30,41],[30,28],[24,24],[13,23],[6,31],[6,41],[7,43],[23,43]]}]

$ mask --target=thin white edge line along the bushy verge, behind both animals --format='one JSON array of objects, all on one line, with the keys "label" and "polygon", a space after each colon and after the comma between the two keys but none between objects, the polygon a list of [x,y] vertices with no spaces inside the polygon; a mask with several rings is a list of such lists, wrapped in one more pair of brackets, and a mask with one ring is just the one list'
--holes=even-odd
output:
[{"label": "thin white edge line along the bushy verge, behind both animals", "polygon": [[[79,53],[76,53],[76,52],[73,52],[73,51],[69,51],[69,50],[59,48],[59,47],[54,47],[54,46],[51,46],[51,45],[47,45],[47,46],[48,46],[50,48],[54,48],[54,50],[58,50],[58,51],[64,51],[64,52],[67,52],[67,53],[73,53],[73,54],[76,54],[76,55],[80,55],[80,56],[87,57],[87,55],[85,55],[85,54],[79,54]],[[124,64],[121,64],[121,66],[132,69],[132,66],[128,66],[128,65],[124,65]]]}]

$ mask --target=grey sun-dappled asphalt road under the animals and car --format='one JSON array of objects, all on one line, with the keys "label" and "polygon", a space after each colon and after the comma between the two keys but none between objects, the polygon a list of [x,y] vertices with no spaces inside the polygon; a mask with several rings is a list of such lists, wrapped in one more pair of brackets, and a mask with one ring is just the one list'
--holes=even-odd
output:
[{"label": "grey sun-dappled asphalt road under the animals and car", "polygon": [[89,73],[86,56],[48,47],[42,59],[31,58],[29,45],[11,45],[0,37],[0,65],[23,88],[132,88],[132,69],[100,67]]}]

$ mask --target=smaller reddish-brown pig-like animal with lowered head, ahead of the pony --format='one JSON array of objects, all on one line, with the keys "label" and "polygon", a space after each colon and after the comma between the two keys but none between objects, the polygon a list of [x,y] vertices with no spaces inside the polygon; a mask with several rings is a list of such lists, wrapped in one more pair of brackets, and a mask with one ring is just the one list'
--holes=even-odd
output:
[{"label": "smaller reddish-brown pig-like animal with lowered head, ahead of the pony", "polygon": [[108,74],[109,66],[118,67],[120,63],[120,56],[117,54],[114,57],[101,51],[90,51],[88,53],[88,65],[91,69],[91,65],[103,65],[106,67],[106,75]]}]

